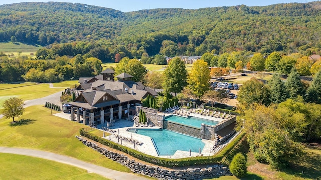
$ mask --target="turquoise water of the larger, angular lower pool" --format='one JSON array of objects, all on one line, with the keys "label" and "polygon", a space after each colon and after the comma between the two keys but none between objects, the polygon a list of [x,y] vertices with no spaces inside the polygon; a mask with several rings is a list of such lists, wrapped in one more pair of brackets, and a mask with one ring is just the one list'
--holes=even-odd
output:
[{"label": "turquoise water of the larger, angular lower pool", "polygon": [[166,129],[130,129],[137,134],[149,136],[154,140],[158,155],[174,155],[177,150],[199,152],[204,143],[199,138],[180,134]]}]

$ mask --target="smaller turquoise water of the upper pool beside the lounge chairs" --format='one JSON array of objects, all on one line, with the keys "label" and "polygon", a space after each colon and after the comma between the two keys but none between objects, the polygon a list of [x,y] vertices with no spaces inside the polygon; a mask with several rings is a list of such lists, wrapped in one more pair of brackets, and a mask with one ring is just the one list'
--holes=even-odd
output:
[{"label": "smaller turquoise water of the upper pool beside the lounge chairs", "polygon": [[165,118],[167,121],[172,121],[176,123],[180,123],[183,125],[188,125],[196,128],[201,128],[201,124],[204,123],[206,125],[216,125],[219,122],[214,121],[214,120],[207,120],[207,119],[202,119],[202,118],[197,118],[197,117],[180,117],[176,115],[171,115]]}]

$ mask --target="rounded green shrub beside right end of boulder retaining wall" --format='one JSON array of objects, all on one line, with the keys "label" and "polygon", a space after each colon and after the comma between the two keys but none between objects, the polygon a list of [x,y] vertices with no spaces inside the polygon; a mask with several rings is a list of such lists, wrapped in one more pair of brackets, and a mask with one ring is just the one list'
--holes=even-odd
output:
[{"label": "rounded green shrub beside right end of boulder retaining wall", "polygon": [[233,157],[230,171],[237,177],[244,177],[246,174],[246,158],[242,153],[238,153]]}]

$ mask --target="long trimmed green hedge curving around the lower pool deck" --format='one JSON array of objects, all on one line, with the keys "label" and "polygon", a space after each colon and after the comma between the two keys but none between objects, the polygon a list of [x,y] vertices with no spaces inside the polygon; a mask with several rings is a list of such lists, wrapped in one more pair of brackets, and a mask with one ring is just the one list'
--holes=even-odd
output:
[{"label": "long trimmed green hedge curving around the lower pool deck", "polygon": [[120,150],[124,153],[127,153],[135,158],[138,158],[148,163],[152,163],[163,167],[183,167],[183,166],[191,166],[191,165],[219,163],[222,160],[222,158],[231,151],[231,149],[237,144],[237,142],[240,141],[240,139],[244,136],[244,133],[241,133],[236,139],[230,142],[230,144],[228,144],[221,152],[219,152],[216,155],[202,156],[202,157],[189,157],[189,158],[181,158],[181,159],[167,159],[167,158],[159,158],[159,157],[147,155],[137,150],[134,150],[134,149],[122,146],[120,144],[117,144],[115,142],[109,141],[107,139],[101,138],[90,132],[86,132],[83,128],[80,129],[80,135],[85,136],[91,140],[99,142],[108,147],[114,148],[116,150]]}]

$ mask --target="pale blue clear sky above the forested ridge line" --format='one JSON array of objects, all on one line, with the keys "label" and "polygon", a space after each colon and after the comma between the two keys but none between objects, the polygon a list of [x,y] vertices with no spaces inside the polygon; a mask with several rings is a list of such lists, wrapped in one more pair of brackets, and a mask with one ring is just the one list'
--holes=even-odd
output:
[{"label": "pale blue clear sky above the forested ridge line", "polygon": [[306,3],[316,0],[1,0],[0,5],[20,2],[72,2],[107,7],[122,12],[131,12],[143,9],[154,8],[184,8],[198,9],[204,7],[221,7],[221,6],[266,6],[277,3]]}]

